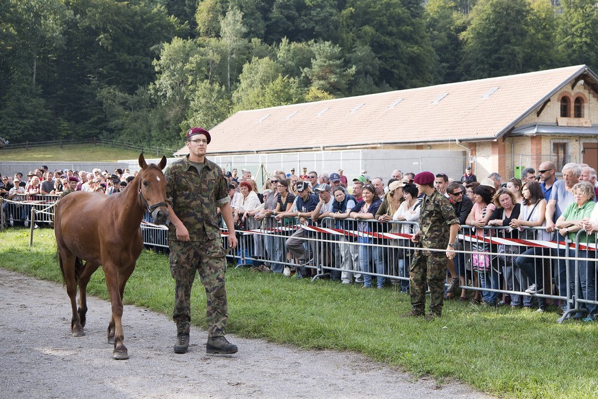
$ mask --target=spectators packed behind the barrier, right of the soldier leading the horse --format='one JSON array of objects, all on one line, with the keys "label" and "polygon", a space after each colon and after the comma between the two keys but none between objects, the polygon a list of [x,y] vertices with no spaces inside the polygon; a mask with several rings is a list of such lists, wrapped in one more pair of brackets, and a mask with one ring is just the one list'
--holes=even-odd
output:
[{"label": "spectators packed behind the barrier, right of the soldier leading the horse", "polygon": [[[376,233],[416,232],[420,198],[413,184],[414,173],[394,170],[390,173],[393,178],[384,182],[366,171],[352,181],[343,176],[342,169],[334,173],[303,169],[299,176],[294,169],[290,173],[274,171],[262,187],[263,198],[259,198],[260,191],[249,171],[243,169],[240,177],[236,169],[223,172],[229,180],[236,219],[247,221],[247,217],[253,217],[253,229],[273,232],[265,236],[247,234],[251,245],[245,245],[249,248],[245,255],[259,260],[253,270],[294,273],[301,278],[314,276],[315,266],[323,265],[331,267],[330,277],[342,284],[357,283],[364,288],[397,285],[401,291],[408,291],[412,243],[379,238]],[[499,245],[487,238],[566,238],[575,242],[577,231],[585,229],[588,234],[581,237],[582,241],[593,243],[594,235],[590,233],[598,230],[598,208],[593,211],[598,182],[593,168],[570,163],[558,171],[553,162],[543,162],[538,171],[525,168],[521,178],[503,180],[496,172],[478,178],[467,167],[456,179],[436,173],[434,186],[453,204],[462,233],[472,237],[460,242],[464,251],[454,261],[447,261],[445,299],[546,311],[552,302],[545,296],[566,295],[568,280],[562,247],[550,250],[544,246]],[[250,191],[255,192],[251,201],[247,195]],[[391,221],[403,223],[388,223]],[[288,232],[277,230],[281,226],[294,227]],[[311,229],[301,226],[352,230],[356,234],[330,236],[333,238],[321,243],[314,240]],[[240,227],[251,230],[247,224]],[[587,252],[586,256],[594,254]],[[576,264],[584,286],[583,298],[596,300],[595,262]],[[389,275],[399,278],[384,277]],[[477,289],[472,298],[467,298],[465,289],[460,290],[460,295],[456,292],[459,285]],[[499,291],[530,295],[506,295]],[[558,304],[560,311],[566,311],[566,303]],[[585,319],[593,320],[598,309],[587,307],[585,314],[576,317],[585,315]]]}]

